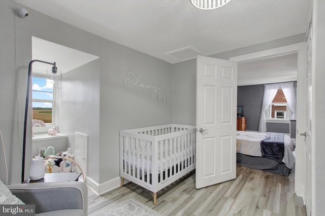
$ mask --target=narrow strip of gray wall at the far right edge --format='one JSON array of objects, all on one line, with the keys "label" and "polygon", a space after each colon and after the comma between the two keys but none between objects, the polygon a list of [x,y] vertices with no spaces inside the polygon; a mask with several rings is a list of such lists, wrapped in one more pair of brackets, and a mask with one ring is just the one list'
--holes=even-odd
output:
[{"label": "narrow strip of gray wall at the far right edge", "polygon": [[[324,156],[325,145],[324,145],[324,131],[325,131],[325,1],[317,1],[318,5],[315,8],[313,19],[317,19],[317,25],[315,25],[316,34],[315,42],[313,48],[315,48],[315,55],[313,60],[315,60],[315,83],[314,83],[314,92],[315,92],[315,113],[314,113],[314,138],[315,138],[315,155],[312,155],[314,158],[314,175],[312,176],[314,189],[315,189],[315,198],[316,201],[312,202],[316,205],[316,209],[312,212],[314,215],[321,215],[325,211],[325,205],[323,202],[325,188],[323,184],[325,182],[325,169],[324,165]],[[316,13],[317,12],[317,13]],[[320,48],[320,49],[317,49]]]}]

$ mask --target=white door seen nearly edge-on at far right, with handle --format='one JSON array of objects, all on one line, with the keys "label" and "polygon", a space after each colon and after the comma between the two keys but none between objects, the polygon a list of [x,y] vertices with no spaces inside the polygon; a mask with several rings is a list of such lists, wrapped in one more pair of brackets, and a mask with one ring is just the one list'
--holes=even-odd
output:
[{"label": "white door seen nearly edge-on at far right, with handle", "polygon": [[310,215],[311,206],[312,206],[312,148],[311,148],[311,138],[312,138],[312,38],[311,38],[311,24],[307,35],[306,41],[306,85],[305,85],[305,101],[306,101],[306,109],[305,109],[305,124],[306,131],[305,133],[301,133],[300,135],[304,135],[304,149],[305,149],[305,203],[306,203],[306,211],[307,215]]}]

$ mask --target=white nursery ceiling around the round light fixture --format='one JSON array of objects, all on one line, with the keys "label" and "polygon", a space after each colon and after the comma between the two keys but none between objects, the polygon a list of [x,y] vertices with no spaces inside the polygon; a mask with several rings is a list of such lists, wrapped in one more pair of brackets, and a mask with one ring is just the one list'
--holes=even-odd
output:
[{"label": "white nursery ceiling around the round light fixture", "polygon": [[310,5],[310,0],[232,0],[205,11],[189,0],[15,1],[170,63],[304,33]]}]

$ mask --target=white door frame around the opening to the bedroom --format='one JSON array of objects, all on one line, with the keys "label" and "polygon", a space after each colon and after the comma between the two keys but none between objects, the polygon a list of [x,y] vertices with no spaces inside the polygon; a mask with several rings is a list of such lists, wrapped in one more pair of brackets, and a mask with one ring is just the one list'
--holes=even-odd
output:
[{"label": "white door frame around the opening to the bedroom", "polygon": [[237,61],[238,63],[253,61],[258,59],[264,59],[269,57],[276,57],[286,55],[290,53],[298,53],[298,65],[297,65],[297,130],[296,130],[296,170],[295,170],[295,193],[298,196],[304,197],[304,152],[303,152],[303,137],[299,133],[305,131],[305,43],[297,43],[287,45],[270,50],[264,50],[260,52],[249,53],[245,55],[231,57],[229,60]]}]

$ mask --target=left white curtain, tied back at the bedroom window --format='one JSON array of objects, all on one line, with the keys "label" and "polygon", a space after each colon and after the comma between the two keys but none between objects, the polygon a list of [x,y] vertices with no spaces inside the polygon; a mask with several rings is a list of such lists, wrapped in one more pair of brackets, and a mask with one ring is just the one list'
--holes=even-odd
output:
[{"label": "left white curtain, tied back at the bedroom window", "polygon": [[280,83],[268,84],[264,87],[264,98],[261,110],[261,117],[259,118],[258,132],[266,132],[266,119],[268,114],[268,108],[273,98],[275,97],[279,87]]}]

